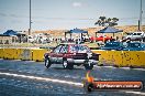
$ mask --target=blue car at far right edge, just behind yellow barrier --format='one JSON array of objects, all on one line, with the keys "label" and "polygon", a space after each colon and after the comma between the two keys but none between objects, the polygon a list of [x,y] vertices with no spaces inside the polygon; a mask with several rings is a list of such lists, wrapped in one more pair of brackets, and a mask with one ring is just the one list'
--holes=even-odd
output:
[{"label": "blue car at far right edge, just behind yellow barrier", "polygon": [[145,51],[145,44],[140,42],[127,43],[127,46],[123,51]]}]

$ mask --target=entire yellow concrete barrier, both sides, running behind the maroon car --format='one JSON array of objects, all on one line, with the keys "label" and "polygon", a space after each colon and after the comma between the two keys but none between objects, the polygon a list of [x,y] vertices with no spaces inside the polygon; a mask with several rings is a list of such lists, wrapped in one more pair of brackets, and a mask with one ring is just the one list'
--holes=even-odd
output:
[{"label": "entire yellow concrete barrier, both sides, running behind the maroon car", "polygon": [[[0,49],[0,58],[44,61],[44,53],[49,52],[43,49]],[[99,51],[99,64],[112,66],[145,67],[145,51]]]}]

